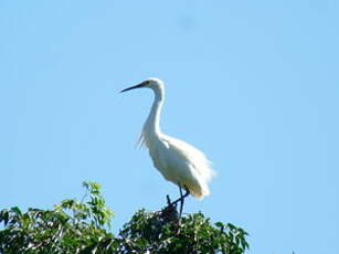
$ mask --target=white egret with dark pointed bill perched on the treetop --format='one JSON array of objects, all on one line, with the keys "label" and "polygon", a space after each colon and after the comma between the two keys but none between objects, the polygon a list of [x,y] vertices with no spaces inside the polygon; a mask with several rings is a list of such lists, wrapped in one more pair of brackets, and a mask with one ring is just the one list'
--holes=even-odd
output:
[{"label": "white egret with dark pointed bill perched on the treetop", "polygon": [[[180,198],[180,216],[183,209],[183,200],[189,194],[202,200],[210,194],[209,182],[215,176],[206,156],[192,145],[163,134],[160,129],[160,115],[165,102],[165,84],[156,77],[121,89],[120,93],[136,89],[150,88],[153,94],[153,103],[150,113],[144,124],[138,144],[146,147],[153,167],[162,177],[177,184]],[[186,193],[182,194],[182,189]],[[168,199],[169,200],[169,199]]]}]

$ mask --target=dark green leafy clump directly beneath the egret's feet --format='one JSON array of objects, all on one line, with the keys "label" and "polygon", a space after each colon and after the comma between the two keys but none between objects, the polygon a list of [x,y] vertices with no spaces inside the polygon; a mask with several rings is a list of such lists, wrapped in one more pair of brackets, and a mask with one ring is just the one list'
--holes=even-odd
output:
[{"label": "dark green leafy clump directly beneath the egret's feet", "polygon": [[231,223],[214,226],[201,212],[179,222],[173,220],[176,212],[171,207],[156,213],[138,211],[120,232],[125,240],[120,253],[241,254],[248,248],[244,230]]}]

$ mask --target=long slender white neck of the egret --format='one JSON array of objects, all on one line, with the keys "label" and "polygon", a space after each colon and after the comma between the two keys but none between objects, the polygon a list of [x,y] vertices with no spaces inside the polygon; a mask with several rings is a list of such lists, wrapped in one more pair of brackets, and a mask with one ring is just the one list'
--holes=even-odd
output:
[{"label": "long slender white neck of the egret", "polygon": [[162,109],[165,93],[163,89],[155,89],[153,92],[155,100],[147,117],[147,120],[144,125],[144,134],[147,137],[158,137],[161,135],[160,114]]}]

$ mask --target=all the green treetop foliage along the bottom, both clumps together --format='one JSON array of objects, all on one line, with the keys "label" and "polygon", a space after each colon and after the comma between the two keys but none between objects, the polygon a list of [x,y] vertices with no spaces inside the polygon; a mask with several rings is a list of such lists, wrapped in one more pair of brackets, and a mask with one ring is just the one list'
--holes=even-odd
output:
[{"label": "all the green treetop foliage along the bottom, both clumps together", "polygon": [[176,207],[138,211],[117,236],[109,232],[112,211],[100,187],[84,182],[81,201],[63,200],[53,210],[18,207],[0,211],[1,254],[225,253],[248,248],[246,232],[233,224],[211,224],[201,212],[178,218]]}]

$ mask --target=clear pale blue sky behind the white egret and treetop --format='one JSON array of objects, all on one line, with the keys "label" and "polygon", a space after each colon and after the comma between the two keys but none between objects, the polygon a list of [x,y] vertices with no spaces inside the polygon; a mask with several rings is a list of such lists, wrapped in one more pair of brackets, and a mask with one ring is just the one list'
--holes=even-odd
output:
[{"label": "clear pale blue sky behind the white egret and treetop", "polygon": [[134,144],[150,91],[161,127],[203,150],[218,178],[189,199],[250,233],[248,253],[339,253],[339,3],[0,2],[0,208],[43,209],[97,181],[116,212],[178,189]]}]

